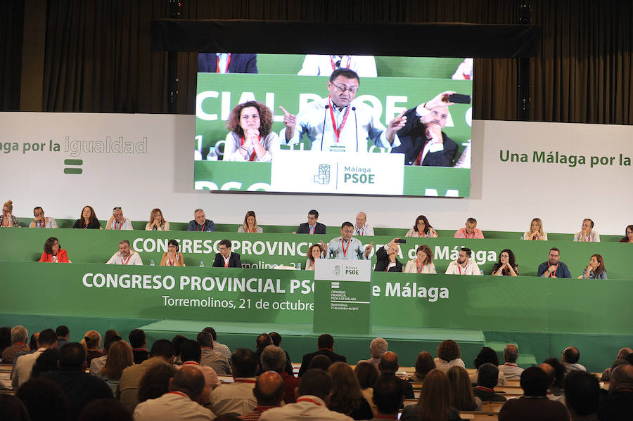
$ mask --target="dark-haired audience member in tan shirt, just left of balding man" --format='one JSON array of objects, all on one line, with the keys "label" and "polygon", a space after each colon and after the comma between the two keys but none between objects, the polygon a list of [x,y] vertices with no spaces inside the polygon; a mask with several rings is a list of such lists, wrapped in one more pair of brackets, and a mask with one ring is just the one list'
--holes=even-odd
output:
[{"label": "dark-haired audience member in tan shirt, just left of balding man", "polygon": [[[215,415],[250,413],[257,406],[255,388],[257,360],[250,349],[238,348],[231,355],[234,382],[223,384],[211,394],[211,409]],[[216,370],[217,371],[217,370]]]}]

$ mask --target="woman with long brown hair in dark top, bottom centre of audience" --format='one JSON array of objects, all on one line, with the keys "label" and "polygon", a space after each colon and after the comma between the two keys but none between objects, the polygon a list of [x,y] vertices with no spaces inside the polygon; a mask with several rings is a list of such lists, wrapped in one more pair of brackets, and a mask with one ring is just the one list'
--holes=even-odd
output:
[{"label": "woman with long brown hair in dark top, bottom centre of audience", "polygon": [[371,406],[364,398],[358,379],[346,363],[333,363],[328,368],[332,379],[332,391],[328,408],[352,417],[354,420],[373,418]]}]

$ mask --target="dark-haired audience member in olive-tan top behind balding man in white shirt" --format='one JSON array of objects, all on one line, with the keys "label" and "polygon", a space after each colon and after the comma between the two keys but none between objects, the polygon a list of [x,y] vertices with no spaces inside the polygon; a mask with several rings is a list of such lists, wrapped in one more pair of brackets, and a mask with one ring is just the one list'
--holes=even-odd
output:
[{"label": "dark-haired audience member in olive-tan top behind balding man in white shirt", "polygon": [[129,409],[139,403],[139,384],[150,368],[164,364],[171,368],[174,361],[174,346],[167,339],[158,339],[152,345],[149,357],[140,364],[130,365],[123,370],[119,380],[119,399]]}]

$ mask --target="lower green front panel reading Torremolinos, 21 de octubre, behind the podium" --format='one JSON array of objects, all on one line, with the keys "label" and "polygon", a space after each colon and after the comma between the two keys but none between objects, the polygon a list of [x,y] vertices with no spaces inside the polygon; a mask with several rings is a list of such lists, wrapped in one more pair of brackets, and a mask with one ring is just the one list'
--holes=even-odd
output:
[{"label": "lower green front panel reading Torremolinos, 21 de octubre, behind the podium", "polygon": [[[19,261],[0,271],[5,313],[312,323],[312,271]],[[623,280],[373,273],[371,324],[630,334],[632,294]]]}]

